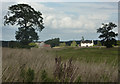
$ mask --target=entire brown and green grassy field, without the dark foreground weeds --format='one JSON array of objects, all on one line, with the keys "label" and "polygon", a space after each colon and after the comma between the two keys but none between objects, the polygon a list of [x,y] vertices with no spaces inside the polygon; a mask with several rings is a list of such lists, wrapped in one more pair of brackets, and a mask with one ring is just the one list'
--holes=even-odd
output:
[{"label": "entire brown and green grassy field, without the dark foreground weeds", "polygon": [[53,78],[55,57],[61,56],[66,62],[72,57],[78,67],[77,76],[81,82],[116,82],[118,79],[117,48],[59,48],[59,49],[2,49],[3,82],[22,82],[21,66],[35,71],[33,82],[41,82],[41,71],[46,70]]}]

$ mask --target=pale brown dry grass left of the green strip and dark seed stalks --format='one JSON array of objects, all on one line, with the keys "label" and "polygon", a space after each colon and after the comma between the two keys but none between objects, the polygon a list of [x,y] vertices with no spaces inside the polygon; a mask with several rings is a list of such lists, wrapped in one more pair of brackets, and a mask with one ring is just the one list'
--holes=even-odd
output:
[{"label": "pale brown dry grass left of the green strip and dark seed stalks", "polygon": [[9,49],[3,48],[2,80],[3,82],[21,81],[20,67],[25,64],[35,70],[35,80],[40,81],[42,69],[52,72],[54,58],[48,49]]}]

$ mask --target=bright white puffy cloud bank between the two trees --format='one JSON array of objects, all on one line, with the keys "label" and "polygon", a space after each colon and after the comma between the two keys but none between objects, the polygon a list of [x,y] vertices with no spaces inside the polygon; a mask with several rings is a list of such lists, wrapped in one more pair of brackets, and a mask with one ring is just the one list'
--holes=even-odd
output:
[{"label": "bright white puffy cloud bank between the two trees", "polygon": [[[98,17],[98,18],[97,18]],[[103,17],[103,18],[102,18]],[[97,20],[107,20],[108,15],[80,15],[80,16],[59,16],[59,15],[48,15],[44,18],[46,27],[54,29],[86,29],[94,30]]]}]

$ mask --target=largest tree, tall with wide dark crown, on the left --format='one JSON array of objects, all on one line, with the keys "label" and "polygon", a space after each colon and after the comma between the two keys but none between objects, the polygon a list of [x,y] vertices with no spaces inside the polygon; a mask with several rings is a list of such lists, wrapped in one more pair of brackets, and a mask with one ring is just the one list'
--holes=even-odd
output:
[{"label": "largest tree, tall with wide dark crown, on the left", "polygon": [[38,40],[39,37],[35,30],[42,31],[44,28],[42,13],[35,11],[28,4],[12,5],[8,10],[4,16],[4,25],[19,26],[18,31],[16,31],[16,40],[23,45]]}]

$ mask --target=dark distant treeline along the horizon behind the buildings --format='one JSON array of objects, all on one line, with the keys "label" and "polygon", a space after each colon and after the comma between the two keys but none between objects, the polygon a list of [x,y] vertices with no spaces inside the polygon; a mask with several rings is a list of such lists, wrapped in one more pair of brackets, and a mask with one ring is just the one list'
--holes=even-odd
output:
[{"label": "dark distant treeline along the horizon behind the buildings", "polygon": [[[90,41],[90,40],[87,40]],[[81,40],[77,40],[77,41],[60,41],[59,38],[54,38],[54,39],[49,39],[46,40],[45,43],[46,44],[50,44],[51,47],[55,47],[55,46],[61,46],[61,45],[65,45],[65,46],[71,46],[71,44],[73,42],[76,42],[76,45],[79,45],[81,43]],[[94,46],[104,46],[103,43],[99,40],[94,40]],[[22,45],[20,42],[18,41],[0,41],[0,46],[2,47],[10,47],[10,48],[30,48],[31,46],[25,46]],[[120,40],[117,41],[117,46],[120,46]]]}]

